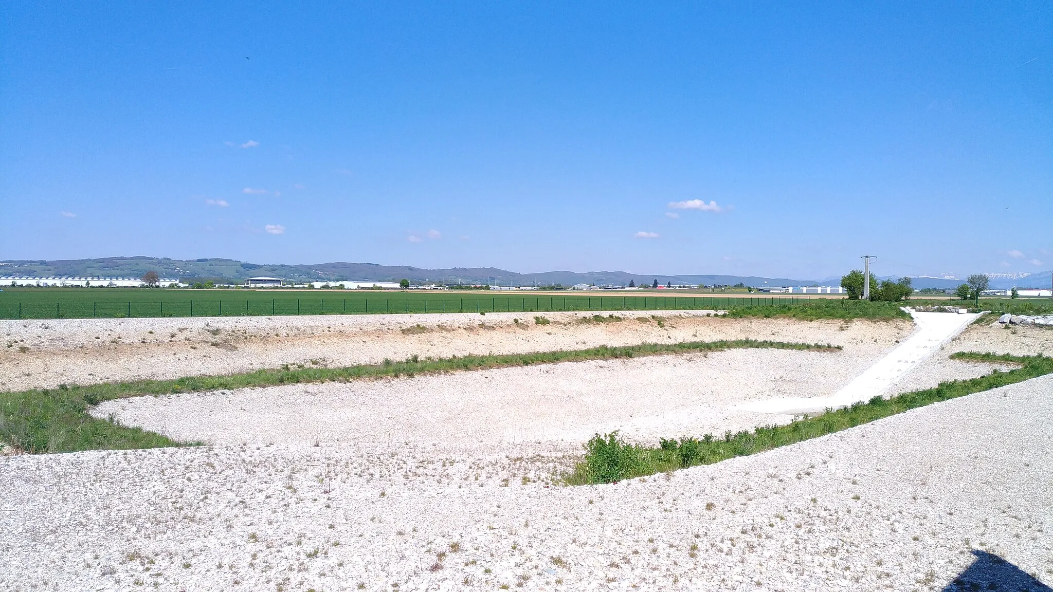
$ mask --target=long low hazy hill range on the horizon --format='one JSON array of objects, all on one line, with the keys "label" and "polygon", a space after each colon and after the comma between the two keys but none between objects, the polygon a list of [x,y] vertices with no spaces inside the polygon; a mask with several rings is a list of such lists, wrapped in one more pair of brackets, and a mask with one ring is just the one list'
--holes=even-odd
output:
[{"label": "long low hazy hill range on the horizon", "polygon": [[260,264],[236,261],[234,259],[170,259],[167,257],[103,257],[100,259],[65,259],[65,260],[7,260],[0,262],[0,276],[122,276],[139,277],[154,271],[161,277],[179,277],[199,280],[242,280],[249,277],[271,276],[297,281],[324,280],[366,280],[366,281],[398,281],[402,278],[412,282],[454,283],[494,283],[499,285],[537,285],[561,283],[590,283],[596,285],[628,285],[630,281],[639,284],[659,283],[706,283],[730,284],[744,283],[752,287],[766,285],[812,285],[813,280],[769,278],[759,276],[733,275],[660,275],[630,274],[625,272],[543,272],[536,274],[520,274],[497,268],[453,268],[445,270],[430,270],[410,265],[378,265],[376,263],[350,263],[335,261],[330,263],[280,265]]}]

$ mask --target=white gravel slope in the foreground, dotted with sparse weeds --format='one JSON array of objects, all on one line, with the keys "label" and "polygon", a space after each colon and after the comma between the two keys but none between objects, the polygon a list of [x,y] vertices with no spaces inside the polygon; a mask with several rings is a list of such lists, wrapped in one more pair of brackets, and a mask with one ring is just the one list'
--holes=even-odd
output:
[{"label": "white gravel slope in the foreground, dotted with sparse weeds", "polygon": [[404,446],[3,457],[0,590],[938,590],[972,549],[1050,584],[1051,416],[1047,376],[575,488]]}]

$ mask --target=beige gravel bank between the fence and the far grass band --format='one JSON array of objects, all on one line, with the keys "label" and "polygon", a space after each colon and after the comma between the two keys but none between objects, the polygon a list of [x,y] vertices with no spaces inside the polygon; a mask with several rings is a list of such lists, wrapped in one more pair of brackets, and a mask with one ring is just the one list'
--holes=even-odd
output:
[{"label": "beige gravel bank between the fence and the far grass band", "polygon": [[[604,313],[608,314],[608,313]],[[0,391],[113,380],[231,374],[283,363],[376,363],[410,355],[503,354],[600,344],[775,339],[886,351],[909,321],[729,319],[703,312],[613,313],[620,322],[582,322],[584,313],[331,315],[302,317],[60,319],[0,321]],[[513,320],[519,319],[519,323]]]}]

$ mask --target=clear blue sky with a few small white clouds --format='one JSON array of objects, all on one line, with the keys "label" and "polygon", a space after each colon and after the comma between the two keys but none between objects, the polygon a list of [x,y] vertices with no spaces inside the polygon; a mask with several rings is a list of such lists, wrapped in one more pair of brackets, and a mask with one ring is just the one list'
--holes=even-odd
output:
[{"label": "clear blue sky with a few small white clouds", "polygon": [[1048,270],[1050,31],[1045,1],[8,2],[0,259]]}]

